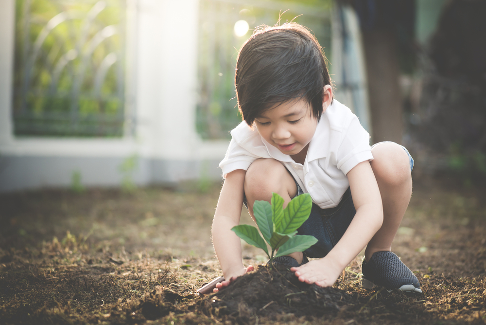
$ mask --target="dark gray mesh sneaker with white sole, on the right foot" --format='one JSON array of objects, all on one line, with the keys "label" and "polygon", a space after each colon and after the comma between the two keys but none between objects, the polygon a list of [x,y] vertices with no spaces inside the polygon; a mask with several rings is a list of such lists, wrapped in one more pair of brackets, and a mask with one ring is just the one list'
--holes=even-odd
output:
[{"label": "dark gray mesh sneaker with white sole, on the right foot", "polygon": [[420,283],[412,271],[392,252],[376,252],[368,262],[361,263],[363,277],[361,286],[373,289],[376,286],[388,290],[399,289],[404,292],[422,293]]}]

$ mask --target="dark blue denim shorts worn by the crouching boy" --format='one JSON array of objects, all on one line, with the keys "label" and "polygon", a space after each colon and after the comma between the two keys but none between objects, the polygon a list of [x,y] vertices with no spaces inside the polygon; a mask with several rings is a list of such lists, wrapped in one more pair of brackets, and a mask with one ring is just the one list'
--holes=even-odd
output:
[{"label": "dark blue denim shorts worn by the crouching boy", "polygon": [[[410,170],[412,170],[414,168],[414,160],[408,150],[404,146],[402,148],[410,159]],[[297,195],[302,193],[302,189],[297,184]],[[354,208],[349,187],[344,193],[343,199],[334,208],[321,209],[317,204],[312,203],[311,215],[297,229],[298,235],[312,235],[318,240],[315,245],[304,252],[305,255],[312,258],[326,256],[344,235],[355,214],[356,209]]]}]

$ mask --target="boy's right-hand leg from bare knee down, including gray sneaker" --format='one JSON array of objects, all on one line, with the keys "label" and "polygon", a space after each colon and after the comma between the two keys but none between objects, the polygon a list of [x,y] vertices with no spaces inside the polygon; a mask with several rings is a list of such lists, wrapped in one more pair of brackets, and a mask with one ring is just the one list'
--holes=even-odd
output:
[{"label": "boy's right-hand leg from bare knee down, including gray sneaker", "polygon": [[374,146],[372,153],[371,168],[382,196],[383,223],[364,252],[362,284],[372,287],[374,283],[387,289],[421,293],[417,277],[390,252],[412,196],[410,158],[403,147],[391,142]]}]

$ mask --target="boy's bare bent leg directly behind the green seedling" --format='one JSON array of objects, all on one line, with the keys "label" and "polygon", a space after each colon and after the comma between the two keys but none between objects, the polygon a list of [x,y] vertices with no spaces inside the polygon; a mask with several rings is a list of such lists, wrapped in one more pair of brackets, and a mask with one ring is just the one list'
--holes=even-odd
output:
[{"label": "boy's bare bent leg directly behind the green seedling", "polygon": [[[248,167],[244,179],[244,194],[248,211],[253,220],[255,220],[253,203],[256,200],[270,202],[272,192],[283,198],[285,208],[297,194],[294,178],[281,162],[275,159],[257,159]],[[302,263],[302,252],[295,252],[289,256],[294,258],[297,263]]]}]

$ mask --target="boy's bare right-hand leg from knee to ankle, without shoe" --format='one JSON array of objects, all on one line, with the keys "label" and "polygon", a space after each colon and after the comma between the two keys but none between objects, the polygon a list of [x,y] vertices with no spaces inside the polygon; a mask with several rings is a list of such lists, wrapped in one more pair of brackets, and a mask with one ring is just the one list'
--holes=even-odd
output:
[{"label": "boy's bare right-hand leg from knee to ankle, without shoe", "polygon": [[374,146],[372,153],[370,164],[382,195],[383,224],[366,246],[366,261],[375,252],[391,250],[412,197],[412,173],[405,150],[399,144],[384,142]]}]

